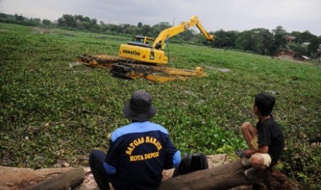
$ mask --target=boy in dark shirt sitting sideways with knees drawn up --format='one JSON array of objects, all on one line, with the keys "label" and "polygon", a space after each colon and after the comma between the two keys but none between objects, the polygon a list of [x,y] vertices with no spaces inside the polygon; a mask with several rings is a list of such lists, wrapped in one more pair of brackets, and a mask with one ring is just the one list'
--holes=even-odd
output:
[{"label": "boy in dark shirt sitting sideways with knees drawn up", "polygon": [[253,112],[259,121],[256,127],[249,122],[241,126],[244,139],[249,145],[242,159],[244,174],[249,179],[254,179],[269,167],[273,167],[284,148],[282,129],[275,122],[271,112],[275,105],[275,98],[263,92],[255,96]]}]

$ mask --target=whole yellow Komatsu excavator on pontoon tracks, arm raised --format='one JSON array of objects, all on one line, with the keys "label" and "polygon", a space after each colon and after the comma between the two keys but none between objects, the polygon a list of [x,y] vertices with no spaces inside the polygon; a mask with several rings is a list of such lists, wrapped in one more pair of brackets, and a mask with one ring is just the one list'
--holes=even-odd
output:
[{"label": "whole yellow Komatsu excavator on pontoon tracks, arm raised", "polygon": [[119,56],[85,54],[79,56],[79,62],[89,66],[112,67],[110,71],[115,76],[133,79],[146,78],[150,81],[166,82],[185,80],[190,76],[204,77],[206,74],[202,67],[196,67],[195,70],[182,70],[164,66],[168,63],[168,56],[164,52],[168,39],[195,25],[206,39],[214,40],[214,36],[206,32],[197,17],[193,16],[189,21],[162,30],[156,39],[135,36],[133,41],[120,45]]}]

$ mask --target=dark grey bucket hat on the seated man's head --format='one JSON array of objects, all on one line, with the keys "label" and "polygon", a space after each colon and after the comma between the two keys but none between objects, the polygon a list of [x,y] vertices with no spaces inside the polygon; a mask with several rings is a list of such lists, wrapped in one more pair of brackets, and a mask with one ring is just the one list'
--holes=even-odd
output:
[{"label": "dark grey bucket hat on the seated man's head", "polygon": [[136,90],[130,97],[130,101],[123,107],[123,113],[127,118],[137,121],[146,121],[155,116],[157,110],[152,106],[152,97],[148,92]]}]

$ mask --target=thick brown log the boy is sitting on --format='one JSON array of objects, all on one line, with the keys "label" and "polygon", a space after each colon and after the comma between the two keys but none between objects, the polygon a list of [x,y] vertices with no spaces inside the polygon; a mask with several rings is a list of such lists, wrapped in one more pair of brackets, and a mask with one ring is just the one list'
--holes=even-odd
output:
[{"label": "thick brown log the boy is sitting on", "polygon": [[241,160],[226,165],[188,173],[162,181],[159,189],[231,189],[244,184],[260,184],[262,189],[298,189],[282,175],[268,170],[255,180],[244,176]]}]

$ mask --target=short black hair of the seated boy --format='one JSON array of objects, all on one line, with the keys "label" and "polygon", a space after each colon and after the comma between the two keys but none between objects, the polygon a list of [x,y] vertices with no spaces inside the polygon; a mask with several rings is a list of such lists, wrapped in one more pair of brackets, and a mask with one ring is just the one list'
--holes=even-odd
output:
[{"label": "short black hair of the seated boy", "polygon": [[275,98],[268,92],[262,92],[255,96],[254,105],[260,110],[262,116],[269,116],[275,105]]}]

